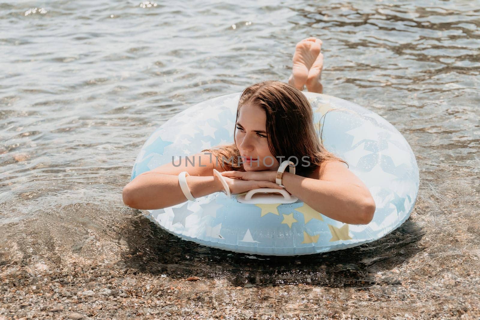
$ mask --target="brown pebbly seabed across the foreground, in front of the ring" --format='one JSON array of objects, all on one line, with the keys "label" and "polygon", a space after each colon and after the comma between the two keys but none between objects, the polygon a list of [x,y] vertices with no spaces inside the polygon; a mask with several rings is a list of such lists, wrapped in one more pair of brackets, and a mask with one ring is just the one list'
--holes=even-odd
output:
[{"label": "brown pebbly seabed across the foreground, in front of the ring", "polygon": [[[420,201],[416,210],[424,207]],[[84,221],[98,213],[92,204],[64,209],[90,213]],[[75,233],[83,237],[64,237],[66,230],[51,219],[35,219],[36,228],[26,235],[35,241],[3,242],[9,238],[3,230],[3,246],[11,250],[1,255],[0,307],[8,319],[476,319],[480,314],[480,251],[468,249],[461,231],[425,233],[415,215],[371,244],[297,257],[199,246],[131,210],[109,218],[103,229],[79,222]],[[442,237],[465,249],[444,246],[437,241]]]}]

